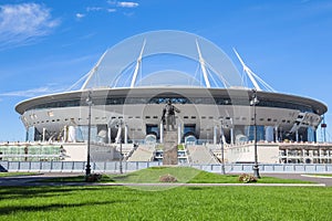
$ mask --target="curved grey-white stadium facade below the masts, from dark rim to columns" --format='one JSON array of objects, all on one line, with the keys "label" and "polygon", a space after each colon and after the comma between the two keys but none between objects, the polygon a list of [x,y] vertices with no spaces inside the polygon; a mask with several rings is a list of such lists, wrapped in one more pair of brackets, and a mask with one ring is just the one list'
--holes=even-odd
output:
[{"label": "curved grey-white stadium facade below the masts, from dark rim to columns", "polygon": [[[17,105],[30,140],[84,141],[89,124],[89,91],[53,94]],[[250,106],[250,90],[225,88],[108,88],[92,92],[92,139],[115,141],[118,122],[124,123],[125,143],[143,141],[149,134],[160,139],[162,109],[170,99],[181,112],[177,125],[181,140],[219,143],[221,133],[229,144],[259,140],[314,141],[315,129],[326,106],[318,101],[279,93],[257,92],[259,103]]]}]

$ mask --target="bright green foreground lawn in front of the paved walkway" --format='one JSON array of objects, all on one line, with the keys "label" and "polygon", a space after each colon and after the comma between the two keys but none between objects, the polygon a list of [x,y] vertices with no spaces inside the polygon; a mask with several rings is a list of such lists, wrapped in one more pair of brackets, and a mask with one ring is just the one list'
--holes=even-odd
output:
[{"label": "bright green foreground lawn in front of the paved walkway", "polygon": [[8,187],[0,220],[330,220],[331,188]]}]

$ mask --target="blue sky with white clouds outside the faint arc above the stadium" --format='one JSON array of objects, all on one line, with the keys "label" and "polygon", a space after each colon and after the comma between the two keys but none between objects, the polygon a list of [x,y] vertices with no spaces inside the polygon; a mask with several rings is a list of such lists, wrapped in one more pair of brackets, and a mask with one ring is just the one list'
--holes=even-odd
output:
[{"label": "blue sky with white clouds outside the faint arc above the stadium", "polygon": [[236,48],[276,91],[332,107],[330,0],[0,0],[0,141],[24,139],[17,103],[66,90],[106,49],[156,30],[204,36],[241,70]]}]

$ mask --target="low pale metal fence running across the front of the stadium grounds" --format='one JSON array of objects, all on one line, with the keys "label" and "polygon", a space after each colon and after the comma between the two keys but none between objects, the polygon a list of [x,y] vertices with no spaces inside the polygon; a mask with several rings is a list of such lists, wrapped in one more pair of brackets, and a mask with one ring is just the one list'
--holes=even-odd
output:
[{"label": "low pale metal fence running across the front of the stadium grounds", "polygon": [[[85,161],[0,161],[0,171],[22,172],[84,172]],[[92,172],[116,173],[120,172],[118,161],[91,162]],[[163,166],[159,161],[122,162],[123,172],[136,171],[148,167]],[[180,165],[196,169],[221,172],[221,165]],[[226,173],[252,172],[250,164],[227,164]],[[284,165],[259,165],[260,172],[264,173],[332,173],[332,165],[319,164],[284,164]]]}]

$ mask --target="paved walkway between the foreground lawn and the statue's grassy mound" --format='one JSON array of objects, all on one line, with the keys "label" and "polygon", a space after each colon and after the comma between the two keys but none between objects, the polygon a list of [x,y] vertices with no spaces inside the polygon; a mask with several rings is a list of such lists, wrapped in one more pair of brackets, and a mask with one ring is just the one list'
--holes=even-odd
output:
[{"label": "paved walkway between the foreground lawn and the statue's grassy mound", "polygon": [[61,178],[69,176],[79,176],[82,173],[40,173],[35,176],[19,176],[19,177],[0,177],[0,186],[200,186],[200,187],[218,187],[218,186],[266,186],[266,187],[332,187],[332,177],[311,177],[308,175],[297,173],[262,173],[266,177],[277,177],[282,179],[299,179],[312,181],[315,183],[120,183],[120,182],[41,182],[50,178]]}]

